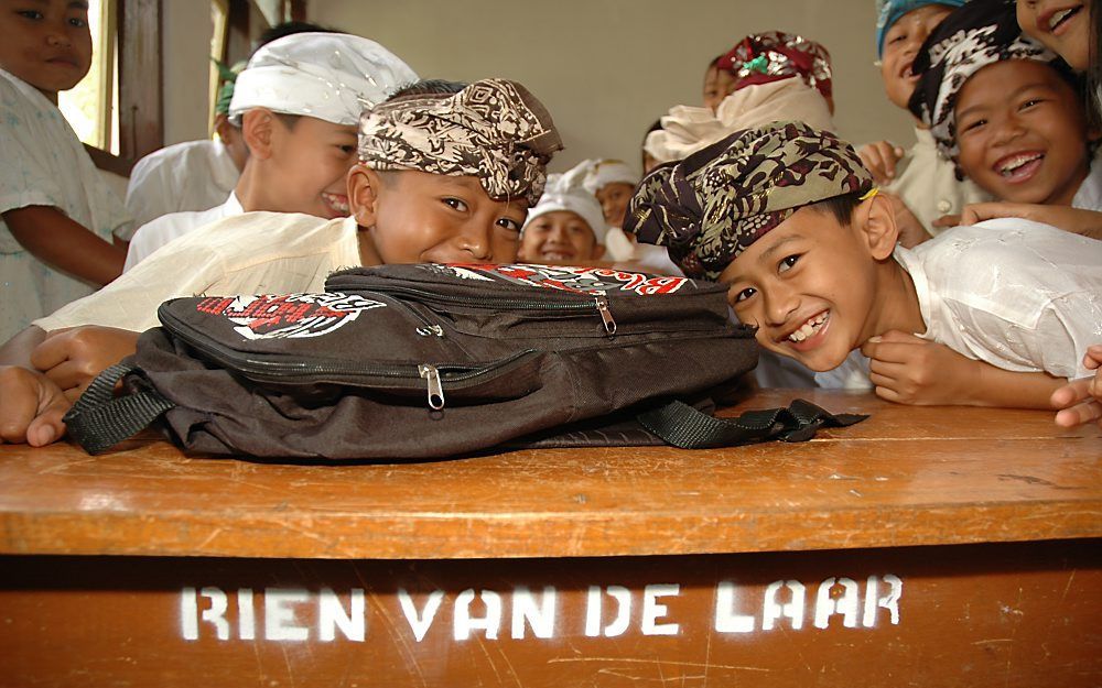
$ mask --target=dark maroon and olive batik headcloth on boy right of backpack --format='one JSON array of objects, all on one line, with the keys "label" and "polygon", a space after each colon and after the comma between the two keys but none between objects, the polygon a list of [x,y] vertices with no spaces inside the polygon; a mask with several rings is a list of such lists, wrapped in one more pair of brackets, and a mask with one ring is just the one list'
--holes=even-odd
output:
[{"label": "dark maroon and olive batik headcloth on boy right of backpack", "polygon": [[799,208],[872,185],[845,141],[802,122],[773,122],[651,171],[624,229],[665,245],[685,275],[715,281]]}]

